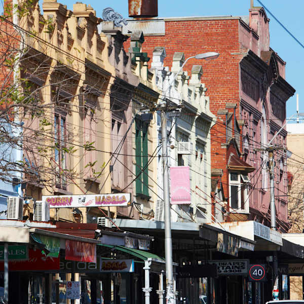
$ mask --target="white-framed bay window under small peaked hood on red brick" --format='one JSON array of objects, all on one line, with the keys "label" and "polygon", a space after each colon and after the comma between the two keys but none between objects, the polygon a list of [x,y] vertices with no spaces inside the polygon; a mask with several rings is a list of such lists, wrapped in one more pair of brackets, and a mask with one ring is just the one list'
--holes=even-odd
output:
[{"label": "white-framed bay window under small peaked hood on red brick", "polygon": [[245,174],[239,172],[231,172],[229,174],[230,188],[230,207],[231,212],[248,213],[248,183],[249,178]]}]

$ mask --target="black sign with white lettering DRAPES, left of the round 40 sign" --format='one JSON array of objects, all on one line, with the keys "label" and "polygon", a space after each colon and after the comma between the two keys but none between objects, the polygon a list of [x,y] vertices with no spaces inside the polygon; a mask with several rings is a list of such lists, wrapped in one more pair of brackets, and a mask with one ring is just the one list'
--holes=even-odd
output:
[{"label": "black sign with white lettering DRAPES, left of the round 40 sign", "polygon": [[210,264],[216,264],[217,274],[230,276],[248,276],[248,259],[239,260],[212,260]]}]

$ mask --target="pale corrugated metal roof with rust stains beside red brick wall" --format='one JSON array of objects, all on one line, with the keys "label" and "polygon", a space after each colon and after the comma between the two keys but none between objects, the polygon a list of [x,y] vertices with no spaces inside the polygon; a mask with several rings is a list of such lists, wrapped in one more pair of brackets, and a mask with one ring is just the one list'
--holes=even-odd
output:
[{"label": "pale corrugated metal roof with rust stains beside red brick wall", "polygon": [[164,20],[136,20],[128,21],[128,25],[123,26],[123,34],[129,35],[134,30],[141,30],[145,36],[150,35],[165,35]]}]

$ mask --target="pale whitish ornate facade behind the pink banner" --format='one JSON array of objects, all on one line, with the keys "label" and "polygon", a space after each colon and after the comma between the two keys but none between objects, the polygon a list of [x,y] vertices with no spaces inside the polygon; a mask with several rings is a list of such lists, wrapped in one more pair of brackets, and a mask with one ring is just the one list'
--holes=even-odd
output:
[{"label": "pale whitish ornate facade behind the pink banner", "polygon": [[[169,135],[169,166],[189,166],[190,194],[189,204],[173,205],[172,221],[210,222],[211,217],[211,160],[210,128],[214,125],[214,115],[209,109],[207,88],[201,83],[203,69],[193,65],[191,76],[180,71],[184,54],[176,52],[171,71],[164,67],[166,50],[156,47],[153,52],[151,70],[157,74],[157,84],[171,105],[181,105],[181,111],[168,113],[167,131]],[[174,84],[168,86],[176,77]],[[161,140],[161,119],[158,115],[157,136]],[[162,184],[162,162],[158,162],[158,194],[155,205],[155,220],[164,220]],[[172,203],[172,200],[171,200]]]}]

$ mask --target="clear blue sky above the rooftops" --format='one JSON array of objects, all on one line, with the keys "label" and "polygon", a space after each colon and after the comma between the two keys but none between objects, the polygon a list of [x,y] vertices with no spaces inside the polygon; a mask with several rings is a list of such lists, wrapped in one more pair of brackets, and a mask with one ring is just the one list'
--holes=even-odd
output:
[{"label": "clear blue sky above the rooftops", "polygon": [[[304,44],[303,15],[304,1],[293,0],[260,0],[291,32]],[[65,0],[68,9],[76,0]],[[102,10],[111,7],[115,11],[128,17],[128,0],[82,0],[83,3],[91,4],[96,10],[98,17],[102,16]],[[250,0],[159,0],[159,17],[169,16],[218,16],[248,15]],[[291,5],[292,4],[292,5]],[[254,6],[260,6],[254,0]],[[271,47],[286,61],[286,80],[299,94],[299,110],[304,112],[304,88],[300,71],[304,70],[302,56],[304,49],[298,45],[292,37],[271,17],[270,18],[270,42]],[[296,112],[296,93],[287,101],[287,118]]]}]

